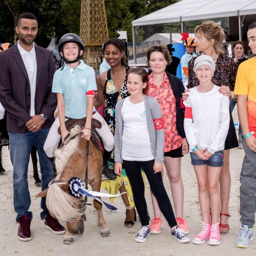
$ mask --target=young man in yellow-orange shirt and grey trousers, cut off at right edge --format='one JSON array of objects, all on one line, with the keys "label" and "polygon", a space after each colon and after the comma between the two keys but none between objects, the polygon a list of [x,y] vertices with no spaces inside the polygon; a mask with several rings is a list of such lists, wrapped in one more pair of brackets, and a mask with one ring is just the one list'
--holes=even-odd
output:
[{"label": "young man in yellow-orange shirt and grey trousers, cut off at right edge", "polygon": [[[248,45],[256,54],[256,22],[249,26]],[[239,65],[234,94],[237,94],[238,117],[243,131],[245,150],[240,176],[241,229],[236,246],[246,248],[255,238],[253,225],[256,211],[256,57]]]}]

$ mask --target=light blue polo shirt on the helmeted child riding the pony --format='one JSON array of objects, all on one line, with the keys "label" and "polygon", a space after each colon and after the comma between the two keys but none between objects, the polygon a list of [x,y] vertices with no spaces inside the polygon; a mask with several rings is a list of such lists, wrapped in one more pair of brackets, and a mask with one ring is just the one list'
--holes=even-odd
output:
[{"label": "light blue polo shirt on the helmeted child riding the pony", "polygon": [[63,94],[66,117],[86,117],[86,93],[90,90],[97,90],[95,72],[83,60],[75,69],[66,64],[62,71],[58,69],[53,76],[52,92]]}]

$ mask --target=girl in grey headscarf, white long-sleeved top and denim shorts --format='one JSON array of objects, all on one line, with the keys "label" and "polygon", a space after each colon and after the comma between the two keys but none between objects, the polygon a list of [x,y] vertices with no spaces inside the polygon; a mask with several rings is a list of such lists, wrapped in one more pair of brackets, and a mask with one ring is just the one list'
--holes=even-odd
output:
[{"label": "girl in grey headscarf, white long-sleeved top and denim shorts", "polygon": [[219,87],[211,82],[215,64],[210,56],[197,57],[194,71],[200,84],[190,89],[184,101],[184,130],[198,182],[203,228],[193,243],[203,244],[209,239],[210,245],[219,245],[219,177],[230,124],[229,98],[220,94]]}]

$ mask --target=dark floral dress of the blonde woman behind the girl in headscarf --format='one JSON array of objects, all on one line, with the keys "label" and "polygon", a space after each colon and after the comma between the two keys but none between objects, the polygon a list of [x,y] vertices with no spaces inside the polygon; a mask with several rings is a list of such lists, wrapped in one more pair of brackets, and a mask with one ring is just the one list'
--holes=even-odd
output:
[{"label": "dark floral dress of the blonde woman behind the girl in headscarf", "polygon": [[[199,80],[193,70],[194,62],[196,58],[193,58],[188,63],[188,89],[199,85]],[[229,86],[230,90],[233,90],[237,76],[237,64],[232,58],[220,53],[215,64],[215,72],[211,79],[211,82],[217,86]],[[225,150],[238,147],[237,134],[233,123],[233,118],[230,110],[230,128],[225,140]]]}]

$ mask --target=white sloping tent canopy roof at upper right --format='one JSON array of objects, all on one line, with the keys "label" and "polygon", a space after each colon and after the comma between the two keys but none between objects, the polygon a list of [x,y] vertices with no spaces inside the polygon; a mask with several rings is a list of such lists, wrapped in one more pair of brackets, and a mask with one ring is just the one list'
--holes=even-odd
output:
[{"label": "white sloping tent canopy roof at upper right", "polygon": [[212,19],[256,13],[256,0],[181,0],[132,21],[132,26]]}]

